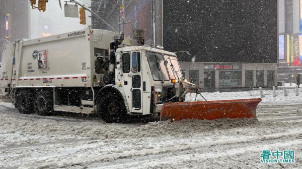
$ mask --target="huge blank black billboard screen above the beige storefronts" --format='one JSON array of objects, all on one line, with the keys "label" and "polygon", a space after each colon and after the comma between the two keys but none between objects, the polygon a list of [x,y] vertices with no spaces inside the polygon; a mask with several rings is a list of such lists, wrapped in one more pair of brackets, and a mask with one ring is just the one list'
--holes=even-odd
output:
[{"label": "huge blank black billboard screen above the beige storefronts", "polygon": [[[276,0],[163,0],[164,47],[196,62],[277,63]],[[191,61],[184,55],[181,61]]]}]

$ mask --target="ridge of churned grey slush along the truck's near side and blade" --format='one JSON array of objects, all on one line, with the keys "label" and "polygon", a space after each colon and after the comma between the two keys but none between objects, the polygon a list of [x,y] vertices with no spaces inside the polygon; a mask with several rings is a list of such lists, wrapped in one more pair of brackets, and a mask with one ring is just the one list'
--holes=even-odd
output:
[{"label": "ridge of churned grey slush along the truck's near side and blade", "polygon": [[[214,129],[228,129],[238,126],[257,125],[256,119],[216,119],[216,120],[181,120],[171,122],[158,121],[147,124],[106,124],[100,121],[55,121],[35,119],[30,116],[9,116],[0,114],[0,126],[11,133],[20,133],[26,137],[35,137],[36,133],[51,139],[52,135],[62,135],[60,139],[96,138],[138,138],[156,137],[159,135],[176,136],[194,134]],[[46,137],[45,137],[46,138]],[[43,138],[39,138],[43,139]],[[1,141],[1,140],[0,140]],[[4,140],[2,140],[4,141]],[[38,140],[36,140],[39,142]]]}]

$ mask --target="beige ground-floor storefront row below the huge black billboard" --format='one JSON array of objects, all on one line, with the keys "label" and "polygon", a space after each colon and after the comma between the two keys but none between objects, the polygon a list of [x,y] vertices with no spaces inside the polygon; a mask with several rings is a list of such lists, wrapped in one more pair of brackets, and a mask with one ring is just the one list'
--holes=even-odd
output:
[{"label": "beige ground-floor storefront row below the huge black billboard", "polygon": [[277,84],[276,64],[180,62],[182,73],[201,88],[272,87]]}]

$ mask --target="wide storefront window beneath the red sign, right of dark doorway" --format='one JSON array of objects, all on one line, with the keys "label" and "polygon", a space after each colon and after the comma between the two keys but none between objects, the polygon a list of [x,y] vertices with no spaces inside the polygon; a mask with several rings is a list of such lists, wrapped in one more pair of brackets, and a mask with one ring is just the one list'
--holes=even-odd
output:
[{"label": "wide storefront window beneath the red sign, right of dark doorway", "polygon": [[240,87],[241,71],[219,72],[219,87]]}]

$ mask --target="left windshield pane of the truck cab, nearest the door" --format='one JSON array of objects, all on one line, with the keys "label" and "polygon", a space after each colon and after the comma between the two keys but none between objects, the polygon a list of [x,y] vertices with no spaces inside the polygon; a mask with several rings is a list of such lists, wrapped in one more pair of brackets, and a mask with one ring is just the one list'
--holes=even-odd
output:
[{"label": "left windshield pane of the truck cab, nearest the door", "polygon": [[162,54],[147,52],[147,59],[153,80],[169,80],[168,71]]}]

